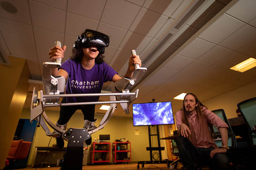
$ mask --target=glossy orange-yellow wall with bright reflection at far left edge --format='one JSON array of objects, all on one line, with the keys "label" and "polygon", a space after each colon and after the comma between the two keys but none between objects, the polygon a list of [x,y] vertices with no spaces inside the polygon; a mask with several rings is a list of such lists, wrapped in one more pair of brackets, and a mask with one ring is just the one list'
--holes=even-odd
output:
[{"label": "glossy orange-yellow wall with bright reflection at far left edge", "polygon": [[30,76],[25,59],[16,57],[9,57],[9,59],[11,66],[0,64],[0,129],[3,137],[0,144],[0,169],[4,167],[21,116]]}]

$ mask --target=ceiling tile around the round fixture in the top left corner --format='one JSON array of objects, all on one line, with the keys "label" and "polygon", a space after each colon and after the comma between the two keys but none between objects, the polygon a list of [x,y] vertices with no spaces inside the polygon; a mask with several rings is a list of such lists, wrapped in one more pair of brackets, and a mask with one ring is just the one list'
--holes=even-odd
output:
[{"label": "ceiling tile around the round fixture in the top left corner", "polygon": [[[2,1],[1,3],[3,3]],[[0,17],[7,18],[13,21],[18,21],[31,25],[31,19],[28,9],[27,1],[22,0],[8,0],[9,3],[16,7],[17,12],[11,13],[4,9],[0,10]],[[1,6],[2,8],[2,6]]]}]

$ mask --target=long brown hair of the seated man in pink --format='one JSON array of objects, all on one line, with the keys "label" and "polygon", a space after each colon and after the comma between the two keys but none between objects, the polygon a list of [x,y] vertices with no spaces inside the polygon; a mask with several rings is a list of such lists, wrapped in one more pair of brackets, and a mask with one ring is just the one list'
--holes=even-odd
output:
[{"label": "long brown hair of the seated man in pink", "polygon": [[[196,111],[197,111],[197,117],[198,117],[199,122],[202,123],[202,118],[204,117],[204,114],[202,113],[201,107],[204,106],[203,103],[201,103],[201,102],[198,100],[197,96],[196,96],[195,94],[193,94],[193,93],[187,93],[187,94],[185,95],[185,97],[184,97],[184,100],[185,100],[185,98],[186,98],[187,95],[192,95],[192,96],[195,98],[195,103],[197,103],[197,106],[196,106],[196,108],[195,108]],[[182,122],[183,122],[184,124],[186,124],[187,127],[190,129],[190,126],[189,126],[189,123],[188,123],[188,118],[187,118],[188,111],[187,111],[186,108],[185,108],[184,100],[183,100],[183,107],[182,107],[182,109],[181,109],[181,110],[182,110],[182,113],[183,113]],[[206,106],[204,106],[204,107],[206,107]],[[206,108],[207,108],[207,107],[206,107]],[[208,128],[209,128],[209,130],[210,130],[210,133],[211,133],[212,138],[214,138],[213,124],[211,124],[211,123],[208,122]]]}]

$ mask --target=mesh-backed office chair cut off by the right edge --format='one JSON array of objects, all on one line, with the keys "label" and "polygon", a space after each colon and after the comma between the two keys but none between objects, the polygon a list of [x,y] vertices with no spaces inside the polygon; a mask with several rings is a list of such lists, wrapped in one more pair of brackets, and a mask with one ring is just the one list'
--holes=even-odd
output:
[{"label": "mesh-backed office chair cut off by the right edge", "polygon": [[250,146],[256,148],[256,98],[250,98],[237,104],[249,131]]}]

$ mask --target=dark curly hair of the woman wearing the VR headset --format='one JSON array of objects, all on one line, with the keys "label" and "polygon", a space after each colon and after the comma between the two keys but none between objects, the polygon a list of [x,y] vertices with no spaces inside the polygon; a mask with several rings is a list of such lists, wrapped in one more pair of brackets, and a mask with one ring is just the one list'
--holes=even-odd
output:
[{"label": "dark curly hair of the woman wearing the VR headset", "polygon": [[[85,31],[81,35],[84,35],[84,34],[85,34]],[[78,48],[77,49],[75,49],[75,48],[72,49],[71,59],[75,60],[76,62],[81,62],[82,59],[83,59],[83,56],[84,56],[83,44],[81,42],[79,42],[78,43]],[[95,62],[97,64],[102,64],[104,62],[104,60],[103,60],[104,57],[105,57],[104,55],[98,54],[98,56],[95,58]]]}]

